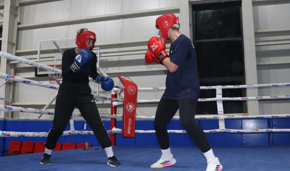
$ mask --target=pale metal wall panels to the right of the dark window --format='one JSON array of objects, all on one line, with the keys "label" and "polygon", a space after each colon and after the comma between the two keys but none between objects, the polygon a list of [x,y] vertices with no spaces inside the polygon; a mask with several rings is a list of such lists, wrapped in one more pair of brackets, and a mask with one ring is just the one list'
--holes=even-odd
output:
[{"label": "pale metal wall panels to the right of the dark window", "polygon": [[[258,4],[253,6],[255,33],[260,30],[269,33],[255,34],[256,42],[290,39],[290,1],[280,4]],[[272,31],[272,32],[271,32]],[[256,46],[258,84],[290,82],[290,44]],[[287,95],[289,87],[260,88],[259,96]],[[259,102],[260,113],[290,112],[290,100],[269,100]]]}]

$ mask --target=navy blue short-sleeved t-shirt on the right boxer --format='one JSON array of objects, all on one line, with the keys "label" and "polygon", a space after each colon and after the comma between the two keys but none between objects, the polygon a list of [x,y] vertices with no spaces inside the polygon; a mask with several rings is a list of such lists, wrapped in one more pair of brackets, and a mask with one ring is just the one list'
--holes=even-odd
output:
[{"label": "navy blue short-sleeved t-shirt on the right boxer", "polygon": [[166,89],[162,98],[192,98],[197,101],[200,94],[200,83],[195,48],[191,40],[181,34],[170,45],[169,58],[179,67],[173,73],[167,71]]}]

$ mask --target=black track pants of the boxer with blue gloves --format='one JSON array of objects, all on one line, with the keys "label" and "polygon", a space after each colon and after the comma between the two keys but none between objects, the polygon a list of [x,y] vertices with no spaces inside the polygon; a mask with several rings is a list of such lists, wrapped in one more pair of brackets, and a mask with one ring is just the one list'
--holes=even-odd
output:
[{"label": "black track pants of the boxer with blue gloves", "polygon": [[50,150],[55,148],[55,144],[66,128],[75,107],[79,109],[81,115],[92,128],[102,148],[112,146],[89,85],[62,82],[56,98],[55,116],[45,147]]}]

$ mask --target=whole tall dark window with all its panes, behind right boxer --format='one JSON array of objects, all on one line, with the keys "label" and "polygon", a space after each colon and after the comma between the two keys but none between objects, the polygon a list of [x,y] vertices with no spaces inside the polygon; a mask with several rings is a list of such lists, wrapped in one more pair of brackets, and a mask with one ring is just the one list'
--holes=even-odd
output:
[{"label": "whole tall dark window with all its panes, behind right boxer", "polygon": [[[201,86],[245,84],[241,2],[192,5],[193,43]],[[223,89],[222,97],[245,97],[245,89]],[[200,98],[215,98],[201,90]],[[247,113],[245,101],[223,101],[224,113]],[[216,101],[200,102],[197,114],[218,114]]]}]

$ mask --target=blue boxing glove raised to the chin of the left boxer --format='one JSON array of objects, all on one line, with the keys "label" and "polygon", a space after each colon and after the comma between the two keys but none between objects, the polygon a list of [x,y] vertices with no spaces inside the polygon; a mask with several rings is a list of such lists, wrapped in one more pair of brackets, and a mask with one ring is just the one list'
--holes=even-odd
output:
[{"label": "blue boxing glove raised to the chin of the left boxer", "polygon": [[88,49],[81,49],[75,57],[75,62],[70,65],[70,69],[77,72],[85,63],[93,58],[92,53]]}]

